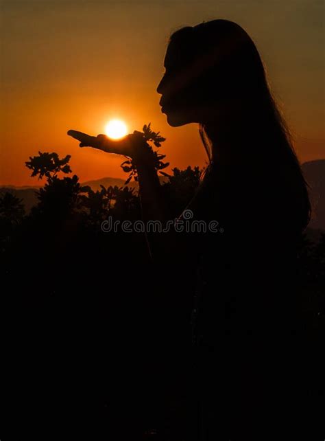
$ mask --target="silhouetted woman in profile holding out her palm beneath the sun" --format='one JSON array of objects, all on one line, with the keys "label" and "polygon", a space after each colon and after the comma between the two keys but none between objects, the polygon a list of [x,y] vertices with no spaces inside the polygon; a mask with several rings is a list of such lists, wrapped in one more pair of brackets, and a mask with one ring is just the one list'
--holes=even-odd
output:
[{"label": "silhouetted woman in profile holding out her palm beneath the sun", "polygon": [[[193,219],[219,226],[187,241],[177,234],[149,238],[157,261],[167,252],[176,264],[195,262],[197,269],[192,325],[199,417],[193,439],[285,436],[301,422],[293,278],[310,215],[289,131],[252,39],[231,21],[174,32],[157,91],[167,122],[197,123],[208,154],[204,177],[184,208]],[[80,146],[132,157],[143,218],[169,218],[141,137],[68,134]]]}]

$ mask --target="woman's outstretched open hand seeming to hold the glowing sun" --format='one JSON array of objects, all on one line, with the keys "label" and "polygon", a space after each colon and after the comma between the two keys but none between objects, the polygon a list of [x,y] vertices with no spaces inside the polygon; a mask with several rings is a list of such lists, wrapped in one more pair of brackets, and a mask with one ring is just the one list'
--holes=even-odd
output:
[{"label": "woman's outstretched open hand seeming to hold the glowing sun", "polygon": [[153,153],[147,142],[145,142],[143,134],[138,131],[134,131],[134,133],[130,133],[121,139],[111,139],[106,135],[91,136],[75,130],[69,130],[67,134],[80,141],[80,147],[98,148],[107,153],[124,155],[136,160],[148,157],[148,154]]}]

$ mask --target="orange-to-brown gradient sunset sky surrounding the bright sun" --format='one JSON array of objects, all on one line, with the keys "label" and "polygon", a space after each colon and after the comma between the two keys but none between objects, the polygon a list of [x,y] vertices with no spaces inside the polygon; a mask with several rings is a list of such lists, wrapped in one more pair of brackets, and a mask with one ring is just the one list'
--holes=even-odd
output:
[{"label": "orange-to-brown gradient sunset sky surrounding the bright sun", "polygon": [[130,133],[151,122],[171,166],[203,166],[197,124],[170,127],[156,87],[169,35],[213,19],[236,21],[253,38],[300,161],[325,158],[323,0],[0,0],[0,8],[0,184],[37,184],[25,161],[38,150],[72,155],[81,181],[126,179],[124,157],[67,136],[104,133],[113,117]]}]

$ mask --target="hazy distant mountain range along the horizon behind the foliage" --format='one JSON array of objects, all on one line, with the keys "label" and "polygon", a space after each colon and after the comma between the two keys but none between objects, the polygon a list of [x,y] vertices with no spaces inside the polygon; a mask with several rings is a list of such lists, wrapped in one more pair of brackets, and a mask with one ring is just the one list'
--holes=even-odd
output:
[{"label": "hazy distant mountain range along the horizon behind the foliage", "polygon": [[[325,231],[325,159],[316,159],[315,161],[308,161],[302,164],[302,172],[306,181],[309,183],[309,196],[311,198],[311,204],[313,207],[313,214],[309,228],[315,230]],[[163,183],[166,181],[166,177],[160,176],[160,181]],[[100,190],[101,185],[105,188],[110,185],[123,187],[126,179],[105,177],[97,179],[95,181],[86,181],[82,185],[88,185],[92,190]],[[139,187],[139,184],[135,181],[128,183],[129,188]],[[14,185],[3,185],[0,187],[0,193],[10,191],[14,193],[19,199],[23,200],[26,212],[36,205],[37,197],[36,190],[39,186],[24,185],[22,187],[16,187]]]}]

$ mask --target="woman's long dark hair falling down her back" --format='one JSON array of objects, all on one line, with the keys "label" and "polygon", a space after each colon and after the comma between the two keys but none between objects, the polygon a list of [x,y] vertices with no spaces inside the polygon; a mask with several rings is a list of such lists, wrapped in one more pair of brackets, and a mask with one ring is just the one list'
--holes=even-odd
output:
[{"label": "woman's long dark hair falling down her back", "polygon": [[237,23],[216,19],[182,27],[169,42],[180,45],[188,63],[189,95],[208,109],[199,122],[208,156],[202,183],[217,173],[223,156],[254,161],[258,168],[272,170],[283,190],[291,188],[288,194],[298,203],[297,223],[303,230],[311,216],[308,184],[252,38]]}]

